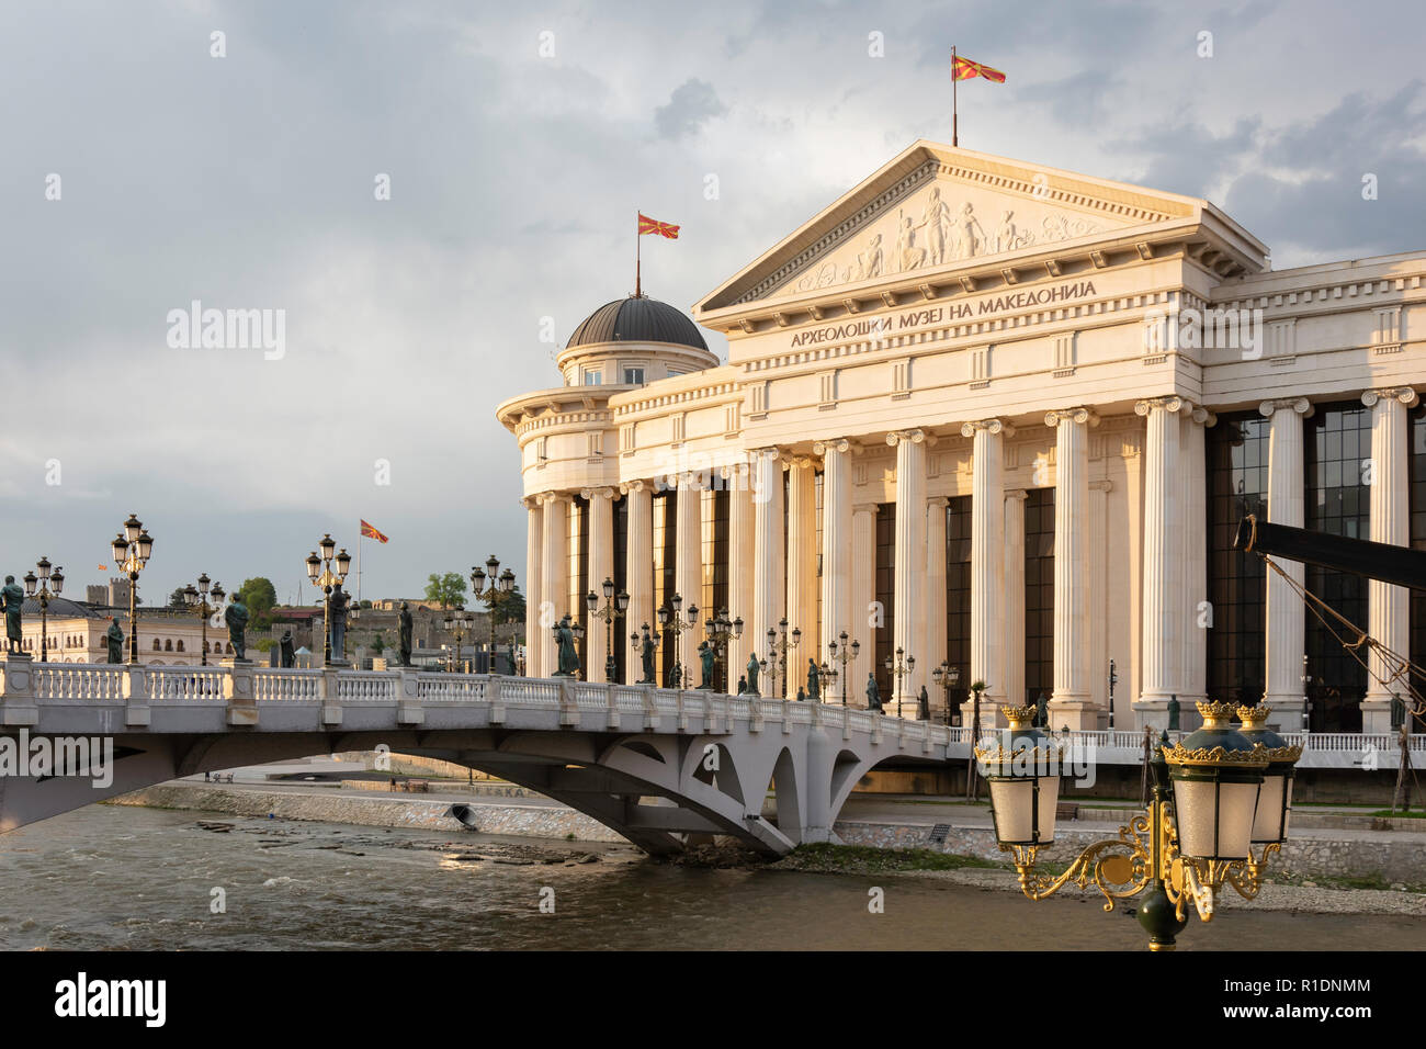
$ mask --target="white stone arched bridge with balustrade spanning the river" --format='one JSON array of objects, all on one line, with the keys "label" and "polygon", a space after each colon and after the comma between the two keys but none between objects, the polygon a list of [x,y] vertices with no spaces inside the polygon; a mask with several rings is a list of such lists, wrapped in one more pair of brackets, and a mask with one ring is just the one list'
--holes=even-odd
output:
[{"label": "white stone arched bridge with balustrade spanning the river", "polygon": [[[545,794],[655,853],[682,849],[689,835],[729,835],[770,855],[834,841],[837,814],[871,768],[970,756],[964,728],[650,685],[412,668],[0,661],[0,735],[21,734],[31,742],[113,739],[113,782],[9,771],[0,775],[0,831],[198,772],[385,745]],[[1075,732],[1070,741],[1092,746],[1099,764],[1142,761],[1142,731]],[[1315,734],[1305,742],[1306,768],[1397,764],[1387,735]],[[1413,736],[1412,749],[1413,764],[1426,764],[1426,736]],[[764,815],[770,785],[776,812]]]}]

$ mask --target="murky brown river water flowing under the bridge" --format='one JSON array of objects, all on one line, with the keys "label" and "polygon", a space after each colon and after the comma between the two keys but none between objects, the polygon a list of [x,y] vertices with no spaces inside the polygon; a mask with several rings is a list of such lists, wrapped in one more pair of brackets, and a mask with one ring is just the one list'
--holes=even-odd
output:
[{"label": "murky brown river water flowing under the bridge", "polygon": [[[874,886],[884,913],[868,912]],[[1420,918],[1241,911],[1179,939],[1253,951],[1423,942]],[[1031,903],[906,875],[709,869],[632,846],[91,805],[0,836],[0,948],[41,946],[1134,951],[1145,938],[1092,901]]]}]

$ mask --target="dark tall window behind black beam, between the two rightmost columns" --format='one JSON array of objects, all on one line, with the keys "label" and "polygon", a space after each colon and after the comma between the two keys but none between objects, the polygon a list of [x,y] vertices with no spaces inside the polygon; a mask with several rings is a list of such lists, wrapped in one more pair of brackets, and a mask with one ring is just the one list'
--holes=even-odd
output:
[{"label": "dark tall window behind black beam, between the two rightmost columns", "polygon": [[[1370,538],[1370,490],[1362,482],[1372,454],[1372,410],[1362,404],[1319,404],[1306,421],[1306,528]],[[1306,567],[1306,587],[1348,622],[1366,629],[1366,579]],[[1360,732],[1366,668],[1322,621],[1306,612],[1308,672],[1313,732]],[[1340,625],[1338,627],[1340,632]]]}]

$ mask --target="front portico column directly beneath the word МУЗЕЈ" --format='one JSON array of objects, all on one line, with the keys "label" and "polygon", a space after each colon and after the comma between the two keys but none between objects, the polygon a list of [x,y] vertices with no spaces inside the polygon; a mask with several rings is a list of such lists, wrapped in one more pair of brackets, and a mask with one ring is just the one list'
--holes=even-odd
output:
[{"label": "front portico column directly beneath the word \u041c\u0423\u0417\u0415\u0408", "polygon": [[[925,432],[894,430],[887,444],[896,448],[896,591],[891,627],[893,651],[914,657],[915,669],[894,678],[890,704],[900,704],[906,718],[915,718],[917,695],[925,674],[925,652],[918,652],[917,634],[925,615]],[[893,658],[896,658],[893,655]],[[894,708],[888,705],[887,714]]]}]

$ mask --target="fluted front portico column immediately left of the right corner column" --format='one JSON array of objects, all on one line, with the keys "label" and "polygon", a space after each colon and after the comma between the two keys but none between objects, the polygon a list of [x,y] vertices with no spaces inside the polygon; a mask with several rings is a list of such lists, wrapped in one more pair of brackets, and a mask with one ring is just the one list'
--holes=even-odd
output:
[{"label": "fluted front portico column immediately left of the right corner column", "polygon": [[1089,686],[1089,618],[1085,561],[1089,549],[1089,427],[1099,418],[1088,408],[1045,415],[1055,428],[1055,662],[1050,696],[1051,724],[1074,731],[1099,726]]}]

